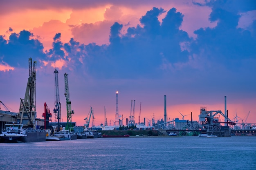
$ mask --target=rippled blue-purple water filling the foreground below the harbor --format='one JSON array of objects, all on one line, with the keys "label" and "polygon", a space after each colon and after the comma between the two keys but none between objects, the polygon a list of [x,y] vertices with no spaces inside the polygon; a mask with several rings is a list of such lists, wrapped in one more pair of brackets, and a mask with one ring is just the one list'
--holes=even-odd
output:
[{"label": "rippled blue-purple water filling the foreground below the harbor", "polygon": [[256,170],[256,137],[0,143],[2,170]]}]

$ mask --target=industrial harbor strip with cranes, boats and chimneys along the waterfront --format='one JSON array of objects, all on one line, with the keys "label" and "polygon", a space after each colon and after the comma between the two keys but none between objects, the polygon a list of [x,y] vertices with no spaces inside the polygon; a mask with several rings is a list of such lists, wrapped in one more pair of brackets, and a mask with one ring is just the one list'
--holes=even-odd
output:
[{"label": "industrial harbor strip with cranes, boats and chimneys along the waterfront", "polygon": [[[130,116],[121,119],[119,115],[118,106],[118,91],[116,92],[116,113],[114,126],[108,126],[105,109],[105,121],[104,125],[95,126],[94,124],[94,110],[90,107],[90,111],[87,117],[84,118],[84,126],[76,126],[75,122],[72,122],[72,116],[74,110],[71,108],[71,100],[69,94],[67,73],[64,74],[65,79],[65,97],[66,97],[66,113],[67,121],[62,122],[61,118],[61,103],[59,99],[58,89],[58,71],[55,69],[55,93],[56,102],[53,109],[54,114],[50,112],[46,102],[44,103],[43,119],[36,117],[36,62],[32,62],[29,58],[29,78],[27,82],[27,88],[25,91],[24,99],[20,98],[19,113],[13,113],[8,108],[1,104],[6,109],[0,110],[0,141],[2,142],[38,142],[38,141],[62,141],[62,140],[75,140],[75,139],[95,139],[95,138],[110,138],[110,137],[232,137],[232,136],[256,136],[256,123],[247,123],[249,113],[242,120],[242,123],[238,123],[238,116],[234,119],[230,119],[227,110],[227,97],[225,96],[225,110],[222,113],[221,110],[210,110],[206,107],[200,108],[198,115],[199,120],[195,121],[179,118],[175,118],[172,121],[167,121],[166,114],[166,95],[164,95],[164,114],[163,119],[157,120],[152,118],[152,124],[150,119],[148,126],[146,126],[146,118],[144,121],[140,121],[141,114],[139,113],[138,122],[135,121],[135,100],[131,101]],[[140,102],[141,110],[141,102]],[[55,117],[55,122],[52,121],[52,117]],[[221,121],[224,120],[224,121]],[[124,125],[126,122],[126,126]],[[110,121],[111,123],[111,121]]]}]

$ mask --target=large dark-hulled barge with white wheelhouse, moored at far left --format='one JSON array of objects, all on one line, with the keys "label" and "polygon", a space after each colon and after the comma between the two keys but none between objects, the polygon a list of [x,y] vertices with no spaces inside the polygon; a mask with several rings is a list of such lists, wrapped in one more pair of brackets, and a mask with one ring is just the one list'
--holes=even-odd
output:
[{"label": "large dark-hulled barge with white wheelhouse, moored at far left", "polygon": [[1,142],[40,142],[46,140],[46,132],[38,129],[23,129],[24,124],[5,124],[0,134]]}]

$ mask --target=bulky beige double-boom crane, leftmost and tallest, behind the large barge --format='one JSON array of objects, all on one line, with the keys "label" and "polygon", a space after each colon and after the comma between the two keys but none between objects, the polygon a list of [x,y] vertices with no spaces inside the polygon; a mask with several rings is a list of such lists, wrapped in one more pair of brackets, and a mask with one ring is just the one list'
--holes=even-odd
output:
[{"label": "bulky beige double-boom crane, leftmost and tallest, behind the large barge", "polygon": [[24,124],[24,128],[36,129],[36,62],[32,66],[32,58],[29,58],[29,78],[24,99],[20,98],[20,110],[17,122]]}]

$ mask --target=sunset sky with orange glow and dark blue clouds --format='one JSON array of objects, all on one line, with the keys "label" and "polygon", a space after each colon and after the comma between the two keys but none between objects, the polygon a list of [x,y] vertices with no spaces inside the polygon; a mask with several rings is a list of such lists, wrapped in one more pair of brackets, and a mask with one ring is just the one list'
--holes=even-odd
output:
[{"label": "sunset sky with orange glow and dark blue clouds", "polygon": [[[0,100],[18,112],[37,62],[36,111],[53,113],[58,70],[62,121],[68,74],[72,122],[116,115],[198,120],[200,107],[256,124],[254,0],[1,0]],[[141,102],[141,107],[140,107]],[[1,110],[4,110],[2,107]],[[182,115],[181,115],[182,114]],[[53,114],[54,115],[54,114]],[[246,119],[247,117],[247,119]],[[54,116],[52,121],[55,121]],[[221,120],[223,121],[223,120]]]}]

